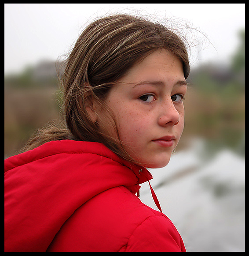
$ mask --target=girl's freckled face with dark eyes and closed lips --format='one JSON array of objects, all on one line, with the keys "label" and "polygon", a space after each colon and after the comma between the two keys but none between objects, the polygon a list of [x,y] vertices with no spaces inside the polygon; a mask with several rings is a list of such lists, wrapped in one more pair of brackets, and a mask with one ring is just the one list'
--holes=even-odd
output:
[{"label": "girl's freckled face with dark eyes and closed lips", "polygon": [[[135,64],[110,90],[120,139],[144,167],[166,166],[184,127],[187,83],[181,61],[158,49]],[[98,120],[106,127],[105,119]],[[114,129],[107,127],[114,136]]]}]

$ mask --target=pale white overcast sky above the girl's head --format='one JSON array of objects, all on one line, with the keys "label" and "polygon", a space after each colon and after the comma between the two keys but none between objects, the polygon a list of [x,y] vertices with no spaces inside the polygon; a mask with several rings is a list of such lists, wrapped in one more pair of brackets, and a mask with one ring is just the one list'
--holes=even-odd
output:
[{"label": "pale white overcast sky above the girl's head", "polygon": [[192,34],[202,38],[193,50],[193,56],[200,52],[193,64],[227,61],[238,46],[238,30],[245,28],[245,4],[4,4],[4,73],[68,53],[84,24],[96,17],[136,10],[176,17],[201,30]]}]

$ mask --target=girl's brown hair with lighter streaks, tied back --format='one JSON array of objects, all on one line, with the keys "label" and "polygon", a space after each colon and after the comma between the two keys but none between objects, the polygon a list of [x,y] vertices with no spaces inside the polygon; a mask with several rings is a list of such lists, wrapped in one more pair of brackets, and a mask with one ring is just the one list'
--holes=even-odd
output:
[{"label": "girl's brown hair with lighter streaks, tied back", "polygon": [[[122,158],[133,161],[125,151],[113,122],[117,138],[103,132],[88,115],[91,97],[106,108],[105,98],[135,63],[157,49],[167,49],[183,63],[184,76],[190,72],[187,49],[178,35],[159,23],[132,15],[113,15],[88,25],[78,38],[62,78],[64,112],[67,128],[50,127],[39,130],[26,146],[26,150],[45,142],[59,139],[76,139],[101,142]],[[108,120],[107,120],[108,121]]]}]

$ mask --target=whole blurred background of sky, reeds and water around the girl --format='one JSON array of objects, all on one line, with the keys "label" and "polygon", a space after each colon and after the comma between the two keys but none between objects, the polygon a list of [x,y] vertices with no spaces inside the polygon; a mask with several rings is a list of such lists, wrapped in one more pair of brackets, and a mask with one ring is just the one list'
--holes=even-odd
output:
[{"label": "whole blurred background of sky, reeds and water around the girl", "polygon": [[[62,120],[57,68],[84,26],[113,13],[167,20],[188,41],[185,129],[151,169],[188,252],[245,251],[245,4],[4,4],[4,157]],[[57,63],[55,65],[55,63]],[[147,184],[141,200],[156,208]]]}]

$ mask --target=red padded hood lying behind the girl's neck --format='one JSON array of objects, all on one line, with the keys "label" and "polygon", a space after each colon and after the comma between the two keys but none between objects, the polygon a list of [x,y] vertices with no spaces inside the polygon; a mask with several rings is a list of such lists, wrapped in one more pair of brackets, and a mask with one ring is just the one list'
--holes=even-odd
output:
[{"label": "red padded hood lying behind the girl's neck", "polygon": [[[45,252],[73,212],[99,193],[136,193],[152,179],[101,143],[51,141],[5,160],[5,252]],[[28,249],[27,249],[28,248]]]}]

